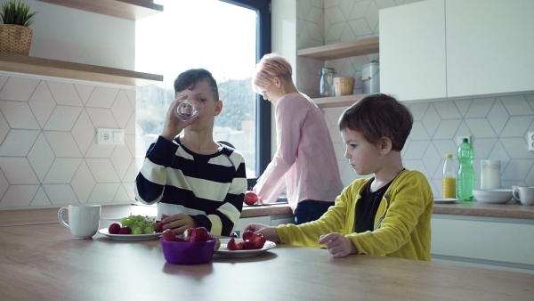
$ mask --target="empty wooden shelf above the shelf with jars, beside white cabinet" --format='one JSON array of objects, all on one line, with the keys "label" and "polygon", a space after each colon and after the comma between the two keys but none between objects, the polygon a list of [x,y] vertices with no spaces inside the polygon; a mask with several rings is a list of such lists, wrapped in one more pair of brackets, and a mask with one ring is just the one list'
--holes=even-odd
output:
[{"label": "empty wooden shelf above the shelf with jars, beside white cabinet", "polygon": [[296,51],[298,56],[327,61],[370,53],[378,53],[378,37],[369,37],[352,42],[305,48]]}]

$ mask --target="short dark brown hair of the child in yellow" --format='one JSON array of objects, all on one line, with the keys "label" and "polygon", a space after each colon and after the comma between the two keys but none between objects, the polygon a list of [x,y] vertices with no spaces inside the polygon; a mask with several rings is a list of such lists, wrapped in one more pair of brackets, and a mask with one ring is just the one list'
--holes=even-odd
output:
[{"label": "short dark brown hair of the child in yellow", "polygon": [[388,137],[392,140],[392,150],[401,151],[413,123],[411,112],[394,97],[371,94],[344,110],[338,127],[340,131],[349,129],[359,132],[371,143]]}]

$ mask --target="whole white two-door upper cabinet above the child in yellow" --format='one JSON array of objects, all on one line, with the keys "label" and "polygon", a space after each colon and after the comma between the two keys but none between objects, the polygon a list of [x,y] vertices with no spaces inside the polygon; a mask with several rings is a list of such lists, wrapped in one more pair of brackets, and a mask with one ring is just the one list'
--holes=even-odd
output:
[{"label": "whole white two-door upper cabinet above the child in yellow", "polygon": [[533,91],[532,15],[530,0],[428,0],[381,10],[381,92],[417,101]]}]

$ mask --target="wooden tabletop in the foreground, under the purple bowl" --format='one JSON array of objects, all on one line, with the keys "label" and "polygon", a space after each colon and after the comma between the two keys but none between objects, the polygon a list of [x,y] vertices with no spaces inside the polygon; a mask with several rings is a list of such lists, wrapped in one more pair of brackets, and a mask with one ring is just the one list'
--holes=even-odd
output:
[{"label": "wooden tabletop in the foreground, under the purple bowl", "polygon": [[2,300],[532,300],[534,274],[278,245],[166,263],[159,240],[76,240],[61,224],[0,227]]}]

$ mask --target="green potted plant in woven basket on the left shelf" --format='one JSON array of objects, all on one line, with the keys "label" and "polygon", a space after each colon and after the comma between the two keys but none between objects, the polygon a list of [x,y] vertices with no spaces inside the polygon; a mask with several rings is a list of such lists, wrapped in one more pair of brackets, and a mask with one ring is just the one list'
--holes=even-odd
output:
[{"label": "green potted plant in woven basket on the left shelf", "polygon": [[29,4],[20,0],[8,0],[0,10],[0,53],[29,53],[36,12],[29,11]]}]

